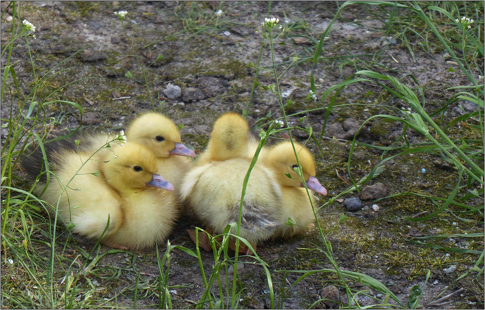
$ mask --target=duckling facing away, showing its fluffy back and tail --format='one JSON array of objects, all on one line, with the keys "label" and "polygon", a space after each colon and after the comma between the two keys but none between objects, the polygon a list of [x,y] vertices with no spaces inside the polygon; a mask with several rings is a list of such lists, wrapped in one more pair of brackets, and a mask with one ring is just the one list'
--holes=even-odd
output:
[{"label": "duckling facing away, showing its fluffy back and tail", "polygon": [[[206,151],[181,186],[181,198],[216,234],[223,233],[227,224],[238,222],[242,183],[251,163],[248,133],[247,122],[241,116],[222,115],[214,123]],[[241,237],[255,250],[260,241],[274,235],[281,226],[281,207],[281,191],[272,171],[256,164],[246,187],[241,218]],[[194,231],[188,233],[195,243]],[[210,251],[204,235],[199,234],[199,245]],[[233,242],[229,246],[235,249]],[[244,245],[240,251],[252,253]]]}]

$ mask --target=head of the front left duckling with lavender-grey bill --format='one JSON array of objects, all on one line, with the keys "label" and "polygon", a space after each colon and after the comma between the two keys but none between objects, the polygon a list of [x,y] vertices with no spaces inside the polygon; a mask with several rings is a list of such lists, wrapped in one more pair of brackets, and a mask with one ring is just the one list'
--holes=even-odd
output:
[{"label": "head of the front left duckling with lavender-grey bill", "polygon": [[148,187],[173,191],[174,186],[157,174],[155,156],[146,147],[128,142],[116,147],[101,165],[107,182],[121,193],[146,190]]}]

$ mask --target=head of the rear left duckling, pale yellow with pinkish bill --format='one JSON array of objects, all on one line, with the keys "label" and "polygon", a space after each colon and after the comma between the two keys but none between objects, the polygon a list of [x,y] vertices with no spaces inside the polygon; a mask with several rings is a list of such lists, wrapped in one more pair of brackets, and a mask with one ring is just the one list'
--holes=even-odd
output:
[{"label": "head of the rear left duckling, pale yellow with pinkish bill", "polygon": [[181,143],[174,122],[160,113],[148,112],[135,118],[126,137],[129,142],[144,145],[158,158],[170,155],[195,157],[195,152]]}]

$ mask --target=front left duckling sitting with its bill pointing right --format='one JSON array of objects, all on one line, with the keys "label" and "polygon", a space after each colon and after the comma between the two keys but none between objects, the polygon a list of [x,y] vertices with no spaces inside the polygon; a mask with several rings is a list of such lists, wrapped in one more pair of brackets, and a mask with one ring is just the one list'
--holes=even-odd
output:
[{"label": "front left duckling sitting with its bill pointing right", "polygon": [[[101,237],[109,218],[101,243],[118,249],[137,250],[166,240],[178,216],[170,192],[174,187],[156,174],[156,158],[146,147],[131,142],[93,155],[62,148],[62,143],[46,146],[49,162],[55,163],[50,171],[57,179],[50,175],[44,191],[43,175],[34,192],[54,208],[50,214],[55,214],[59,201],[58,214],[64,222],[94,239]],[[34,178],[42,164],[37,151],[22,162]]]}]

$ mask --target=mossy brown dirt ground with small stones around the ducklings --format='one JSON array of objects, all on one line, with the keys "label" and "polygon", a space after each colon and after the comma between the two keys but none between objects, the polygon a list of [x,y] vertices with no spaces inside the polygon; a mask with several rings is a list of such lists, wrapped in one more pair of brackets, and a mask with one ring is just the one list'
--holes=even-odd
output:
[{"label": "mossy brown dirt ground with small stones around the ducklings", "polygon": [[[8,2],[1,2],[2,10],[7,4]],[[312,4],[315,6],[311,7]],[[80,114],[74,108],[52,104],[47,107],[47,116],[56,118],[58,129],[74,129],[81,124],[87,126],[88,130],[120,130],[126,127],[135,114],[152,109],[146,87],[125,76],[125,73],[130,71],[134,78],[143,79],[134,57],[119,56],[132,55],[133,52],[118,18],[113,15],[114,11],[129,12],[129,18],[125,20],[128,25],[127,33],[130,39],[134,34],[134,47],[141,63],[146,66],[155,62],[146,70],[148,86],[155,105],[160,108],[159,101],[165,100],[162,112],[169,115],[176,124],[184,125],[181,129],[184,143],[189,143],[197,151],[202,151],[207,145],[211,125],[219,115],[226,111],[241,112],[246,109],[255,78],[255,68],[247,67],[247,64],[250,61],[257,63],[261,34],[256,33],[255,29],[260,20],[266,17],[268,2],[226,2],[221,7],[224,11],[221,20],[230,20],[224,24],[226,30],[211,32],[214,25],[209,24],[209,28],[201,33],[196,32],[207,26],[207,18],[218,11],[218,1],[36,1],[22,2],[20,6],[21,19],[28,19],[37,26],[37,39],[29,40],[37,75],[47,73],[55,64],[87,47],[55,68],[54,71],[59,73],[45,83],[37,93],[37,99],[40,101],[66,82],[78,80],[62,88],[49,100],[62,99],[81,104],[84,112],[82,124]],[[364,4],[355,4],[344,9],[344,18],[337,19],[325,40],[322,56],[366,54],[360,56],[360,59],[371,63],[372,56],[369,55],[382,49],[391,40],[384,37],[383,33],[386,33],[387,28],[373,15],[372,12],[375,10],[376,8]],[[310,37],[318,43],[319,34],[326,29],[336,11],[334,2],[272,2],[270,16],[279,17],[280,22],[287,25],[299,21],[297,26],[302,26],[289,27],[291,35],[281,37],[281,41],[286,45],[275,47],[275,58],[288,57],[293,51],[299,59],[312,58],[315,47],[310,49],[311,42],[301,39],[298,35]],[[1,20],[1,28],[3,46],[4,29],[7,28],[5,17]],[[191,31],[180,33],[189,29]],[[156,61],[158,54],[162,54],[163,58]],[[446,63],[442,54],[442,50],[424,53],[417,49],[414,55],[415,62],[400,40],[392,40],[379,59],[380,64],[392,70],[387,71],[378,65],[373,65],[372,69],[399,78],[406,73],[412,73],[420,85],[425,87],[426,109],[435,111],[453,94],[451,91],[445,91],[447,87],[467,85],[469,82],[463,74],[449,72],[450,64]],[[270,51],[263,49],[262,66],[271,65],[270,56]],[[14,50],[12,57],[14,62],[19,60],[15,70],[21,90],[28,94],[33,79],[25,42]],[[352,59],[336,58],[334,61],[321,62],[315,66],[316,103],[306,99],[310,89],[311,61],[291,67],[280,80],[282,92],[286,94],[285,100],[291,96],[295,100],[288,114],[314,108],[319,104],[326,89],[363,68],[360,62],[349,61]],[[69,69],[60,72],[65,68]],[[88,77],[99,78],[86,79]],[[258,81],[263,85],[275,82],[271,73],[267,72],[260,72]],[[410,79],[403,79],[402,82],[410,87],[416,87]],[[169,83],[181,88],[179,98],[166,98],[163,91]],[[113,94],[114,92],[117,93]],[[323,158],[314,141],[308,142],[307,147],[311,149],[317,162],[317,178],[329,193],[328,196],[318,197],[319,206],[351,185],[346,169],[350,150],[348,140],[352,140],[362,122],[371,115],[396,114],[396,110],[388,106],[407,108],[402,102],[388,95],[380,96],[381,92],[382,88],[372,83],[355,83],[344,88],[336,103],[340,106],[330,115],[325,129],[326,138],[322,140]],[[118,100],[119,97],[127,98]],[[327,99],[325,104],[328,104],[328,101]],[[7,103],[2,103],[2,118],[8,118],[9,109],[6,109],[6,106]],[[463,107],[470,111],[476,109],[472,105],[463,104]],[[280,117],[282,114],[278,109],[274,97],[262,89],[257,89],[249,109],[249,123],[254,127],[261,125],[262,122],[258,122],[258,119],[270,111],[276,112],[272,117]],[[461,110],[453,105],[447,110],[444,119],[449,121],[461,113]],[[324,112],[307,112],[291,116],[289,120],[298,124],[298,119],[303,115],[307,117],[301,126],[311,126],[313,132],[319,135],[322,131]],[[400,123],[376,118],[359,133],[358,141],[389,146],[402,130]],[[470,134],[458,127],[452,127],[450,132],[456,136]],[[7,134],[8,131],[1,130],[2,144],[5,143]],[[308,136],[303,131],[294,131],[293,134],[301,142]],[[414,131],[409,130],[407,134],[411,143],[423,141],[423,137]],[[379,151],[356,147],[352,160],[354,179],[358,180],[369,173],[380,160]],[[426,169],[426,173],[421,172],[422,168]],[[439,157],[409,154],[388,161],[386,170],[367,185],[382,183],[387,195],[409,191],[448,197],[456,182],[456,170],[442,163]],[[357,194],[353,196],[358,196]],[[378,279],[404,303],[407,302],[410,289],[417,284],[422,285],[426,269],[430,269],[431,277],[420,301],[424,308],[483,307],[480,306],[484,302],[483,275],[476,277],[472,274],[453,283],[457,277],[469,270],[478,256],[440,251],[425,245],[414,245],[405,240],[409,237],[436,234],[478,233],[484,231],[483,225],[467,222],[454,225],[452,222],[455,220],[449,213],[442,213],[429,221],[411,223],[403,220],[402,216],[412,216],[430,210],[433,212],[436,206],[417,196],[398,196],[379,201],[379,210],[374,211],[372,201],[376,196],[371,195],[368,199],[360,197],[361,210],[347,212],[342,203],[335,201],[318,214],[325,233],[338,224],[340,213],[349,216],[347,221],[339,224],[339,227],[327,237],[340,268]],[[184,231],[196,225],[201,223],[190,214],[181,218],[177,229],[170,236],[172,244],[183,244],[194,249],[194,244]],[[65,242],[65,236],[61,237],[61,241]],[[86,250],[91,249],[93,245],[77,237],[69,242],[81,245]],[[470,238],[436,241],[435,244],[477,251],[483,249],[483,243],[480,245]],[[318,232],[307,233],[288,242],[267,243],[258,247],[259,256],[270,266],[276,292],[283,280],[283,273],[277,271],[317,270],[330,267],[323,253],[305,249],[315,248],[315,245],[323,246]],[[63,244],[60,243],[60,246],[59,250],[62,252]],[[102,252],[109,249],[103,246]],[[73,250],[70,254],[77,255],[78,252]],[[204,252],[202,257],[206,274],[210,274],[213,255]],[[456,266],[454,272],[444,271],[453,265]],[[134,255],[107,254],[98,262],[98,266],[112,266],[120,270],[120,274],[109,281],[91,278],[97,282],[95,285],[99,290],[96,294],[104,294],[108,298],[118,294],[119,307],[132,307],[136,272],[140,271],[139,287],[145,285],[147,289],[139,289],[137,305],[157,307],[158,294],[149,285],[155,281],[159,273],[155,250]],[[245,264],[239,274],[240,284],[246,288],[242,294],[243,306],[267,308],[269,290],[263,268]],[[289,273],[286,286],[300,275]],[[305,278],[284,296],[284,308],[309,307],[320,298],[318,292],[327,286],[329,281],[335,279],[324,274]],[[463,290],[437,305],[432,304],[438,294],[452,283],[453,285],[440,297],[459,289]],[[174,252],[171,257],[169,284],[182,286],[174,287],[170,291],[175,308],[187,307],[191,305],[191,301],[198,301],[204,291],[204,284],[196,259],[181,251]],[[87,283],[85,286],[87,287]],[[366,289],[358,283],[353,283],[352,287]],[[216,296],[219,294],[215,286],[212,292]],[[340,294],[345,293],[340,290]],[[377,296],[379,293],[371,289],[367,294]],[[361,306],[375,303],[370,297],[362,294],[359,294],[358,298]],[[318,307],[322,306],[317,305]]]}]

